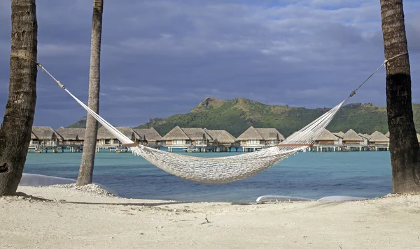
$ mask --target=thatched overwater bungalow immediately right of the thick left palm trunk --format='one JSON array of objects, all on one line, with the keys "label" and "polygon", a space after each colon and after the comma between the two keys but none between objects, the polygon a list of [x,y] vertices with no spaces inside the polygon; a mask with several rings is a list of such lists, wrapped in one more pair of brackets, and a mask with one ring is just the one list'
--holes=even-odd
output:
[{"label": "thatched overwater bungalow immediately right of the thick left palm trunk", "polygon": [[50,126],[32,126],[32,134],[30,144],[36,147],[38,152],[43,149],[45,152],[48,152],[48,149],[57,152],[59,141],[63,140],[62,136]]}]

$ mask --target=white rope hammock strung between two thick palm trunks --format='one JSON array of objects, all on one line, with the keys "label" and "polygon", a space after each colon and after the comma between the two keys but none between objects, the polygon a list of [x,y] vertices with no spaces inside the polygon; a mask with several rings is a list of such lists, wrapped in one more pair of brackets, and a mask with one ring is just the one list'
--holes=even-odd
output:
[{"label": "white rope hammock strung between two thick palm trunks", "polygon": [[[394,56],[391,59],[394,59],[399,54]],[[18,56],[23,59],[29,59],[25,56]],[[379,66],[381,68],[388,62],[388,59],[384,61],[384,63]],[[34,61],[29,59],[30,61]],[[48,73],[50,77],[62,88],[64,91],[69,93],[69,95],[76,100],[90,115],[97,119],[99,123],[109,130],[111,134],[113,134],[120,142],[130,148],[130,150],[136,154],[137,156],[142,156],[146,160],[148,160],[153,165],[159,167],[160,169],[165,170],[169,174],[173,174],[175,176],[179,176],[183,179],[188,179],[190,181],[197,181],[200,183],[230,183],[232,181],[239,181],[241,179],[246,179],[250,176],[258,174],[262,172],[262,170],[268,169],[279,163],[284,158],[297,153],[297,151],[304,151],[309,148],[316,138],[321,135],[323,129],[328,126],[328,123],[332,120],[332,118],[337,114],[339,109],[346,103],[349,98],[351,98],[356,91],[363,86],[367,80],[377,73],[379,68],[374,71],[367,79],[358,86],[358,88],[351,92],[350,96],[339,103],[337,106],[333,107],[331,110],[320,116],[315,121],[309,123],[307,126],[302,128],[301,130],[297,131],[286,140],[281,142],[281,144],[268,148],[262,149],[260,151],[255,151],[251,153],[244,153],[238,156],[228,156],[228,157],[220,157],[220,158],[200,158],[195,156],[186,156],[178,153],[169,153],[165,151],[160,151],[158,149],[153,149],[148,146],[143,146],[133,142],[130,138],[126,137],[113,127],[110,123],[108,123],[105,119],[99,116],[96,112],[93,112],[87,105],[85,105],[82,101],[80,101],[76,96],[64,87],[58,80],[53,77],[48,70],[40,64],[34,61],[40,68],[42,68],[45,73]]]}]

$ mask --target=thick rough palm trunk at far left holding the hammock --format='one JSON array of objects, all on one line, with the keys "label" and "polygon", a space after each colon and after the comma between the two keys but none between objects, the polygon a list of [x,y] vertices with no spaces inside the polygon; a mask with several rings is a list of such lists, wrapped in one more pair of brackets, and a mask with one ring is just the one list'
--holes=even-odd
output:
[{"label": "thick rough palm trunk at far left holding the hammock", "polygon": [[[11,52],[36,61],[35,0],[12,0]],[[25,165],[36,103],[36,63],[10,56],[10,84],[0,127],[0,196],[13,195]]]}]

